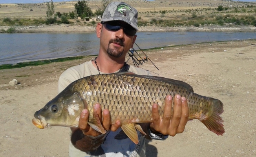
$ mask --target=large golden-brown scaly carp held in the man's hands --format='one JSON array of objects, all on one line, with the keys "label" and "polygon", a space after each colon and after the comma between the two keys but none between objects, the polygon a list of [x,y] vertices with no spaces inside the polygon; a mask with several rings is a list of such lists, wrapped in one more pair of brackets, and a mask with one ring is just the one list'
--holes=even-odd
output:
[{"label": "large golden-brown scaly carp held in the man's hands", "polygon": [[179,80],[130,72],[92,75],[72,82],[44,108],[36,111],[32,122],[41,129],[46,126],[78,127],[80,113],[86,108],[88,124],[106,133],[97,114],[93,114],[93,105],[99,102],[102,110],[110,110],[112,124],[120,120],[126,135],[138,143],[135,128],[144,132],[137,123],[152,122],[154,103],[159,105],[159,115],[163,116],[166,95],[174,97],[176,94],[186,97],[189,119],[200,120],[217,135],[225,132],[220,100],[198,95],[189,84]]}]

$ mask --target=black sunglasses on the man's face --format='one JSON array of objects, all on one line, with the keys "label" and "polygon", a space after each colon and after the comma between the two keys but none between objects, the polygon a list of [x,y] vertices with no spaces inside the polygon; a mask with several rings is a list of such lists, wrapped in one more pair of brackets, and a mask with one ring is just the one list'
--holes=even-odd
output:
[{"label": "black sunglasses on the man's face", "polygon": [[128,36],[134,36],[137,32],[132,26],[128,24],[123,25],[116,21],[104,22],[103,24],[105,24],[106,28],[110,31],[118,31],[121,27],[123,27],[124,33]]}]

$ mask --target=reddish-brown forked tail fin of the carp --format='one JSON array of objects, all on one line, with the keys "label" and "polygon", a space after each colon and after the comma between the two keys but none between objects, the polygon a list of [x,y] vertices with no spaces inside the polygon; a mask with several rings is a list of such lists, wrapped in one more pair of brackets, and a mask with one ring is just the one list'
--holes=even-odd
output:
[{"label": "reddish-brown forked tail fin of the carp", "polygon": [[199,119],[205,126],[212,132],[216,133],[217,135],[223,135],[225,130],[223,128],[223,120],[219,116],[223,113],[223,103],[218,99],[212,98],[213,104],[213,113],[207,119]]}]

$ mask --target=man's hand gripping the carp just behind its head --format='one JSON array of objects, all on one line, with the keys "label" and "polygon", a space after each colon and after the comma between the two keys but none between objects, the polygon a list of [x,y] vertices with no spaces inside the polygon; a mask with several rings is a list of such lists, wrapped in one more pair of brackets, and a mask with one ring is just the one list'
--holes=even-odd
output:
[{"label": "man's hand gripping the carp just behind its head", "polygon": [[[120,125],[121,121],[116,120],[115,124],[111,124],[110,112],[108,109],[104,109],[103,113],[101,112],[101,105],[99,103],[95,104],[93,107],[93,112],[97,113],[99,119],[101,120],[101,124],[105,130],[116,131]],[[103,116],[103,120],[102,120]],[[89,119],[89,112],[87,109],[82,110],[79,119],[79,129],[83,131],[84,135],[98,136],[101,135],[100,132],[91,128],[91,126],[87,123]]]}]

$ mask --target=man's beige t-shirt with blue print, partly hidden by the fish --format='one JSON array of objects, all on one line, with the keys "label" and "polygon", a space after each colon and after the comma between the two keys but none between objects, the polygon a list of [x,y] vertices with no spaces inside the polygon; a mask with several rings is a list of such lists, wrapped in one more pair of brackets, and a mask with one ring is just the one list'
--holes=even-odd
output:
[{"label": "man's beige t-shirt with blue print, partly hidden by the fish", "polygon": [[[130,66],[129,71],[139,75],[151,75],[149,71],[141,68],[135,68],[134,66]],[[75,80],[97,74],[99,74],[99,71],[93,66],[91,61],[71,67],[64,71],[62,75],[60,75],[58,92],[60,93]],[[94,157],[100,155],[104,157],[145,157],[145,138],[139,133],[139,131],[137,131],[137,133],[139,137],[139,143],[134,144],[127,136],[124,136],[121,128],[119,128],[117,131],[109,131],[105,136],[104,142],[96,152],[82,152],[76,149],[70,142],[69,156]]]}]

